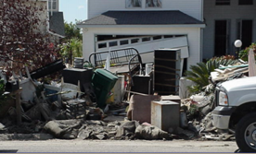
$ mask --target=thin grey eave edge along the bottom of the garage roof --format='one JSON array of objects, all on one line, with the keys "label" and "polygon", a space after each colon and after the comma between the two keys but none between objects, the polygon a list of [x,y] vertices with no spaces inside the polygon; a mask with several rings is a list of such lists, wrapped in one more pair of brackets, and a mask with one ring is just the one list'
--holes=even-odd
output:
[{"label": "thin grey eave edge along the bottom of the garage roof", "polygon": [[77,28],[205,28],[205,24],[172,24],[172,25],[83,25]]}]

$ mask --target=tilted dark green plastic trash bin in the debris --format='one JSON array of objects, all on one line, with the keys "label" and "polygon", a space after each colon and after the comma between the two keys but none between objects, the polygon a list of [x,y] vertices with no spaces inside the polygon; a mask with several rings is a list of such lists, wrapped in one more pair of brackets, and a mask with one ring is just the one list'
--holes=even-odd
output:
[{"label": "tilted dark green plastic trash bin in the debris", "polygon": [[116,84],[118,77],[110,73],[105,69],[96,69],[92,82],[95,88],[97,106],[104,108],[106,106],[106,101],[109,96],[109,92]]}]

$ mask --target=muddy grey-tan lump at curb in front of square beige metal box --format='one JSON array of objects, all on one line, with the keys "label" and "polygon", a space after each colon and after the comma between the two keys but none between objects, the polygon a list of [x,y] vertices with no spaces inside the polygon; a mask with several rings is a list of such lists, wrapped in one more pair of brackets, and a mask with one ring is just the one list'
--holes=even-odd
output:
[{"label": "muddy grey-tan lump at curb in front of square beige metal box", "polygon": [[135,135],[139,138],[144,138],[148,140],[152,139],[172,139],[172,137],[165,131],[162,131],[155,125],[144,125],[141,124],[136,127]]}]

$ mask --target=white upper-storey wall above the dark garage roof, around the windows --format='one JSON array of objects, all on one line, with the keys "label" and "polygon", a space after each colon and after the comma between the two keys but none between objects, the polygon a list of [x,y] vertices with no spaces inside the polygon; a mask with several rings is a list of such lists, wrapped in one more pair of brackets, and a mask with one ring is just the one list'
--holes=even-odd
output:
[{"label": "white upper-storey wall above the dark garage roof, around the windows", "polygon": [[180,10],[187,15],[201,20],[202,0],[162,0],[161,8],[146,8],[142,0],[141,8],[125,8],[125,0],[88,0],[88,18],[94,18],[109,10]]}]

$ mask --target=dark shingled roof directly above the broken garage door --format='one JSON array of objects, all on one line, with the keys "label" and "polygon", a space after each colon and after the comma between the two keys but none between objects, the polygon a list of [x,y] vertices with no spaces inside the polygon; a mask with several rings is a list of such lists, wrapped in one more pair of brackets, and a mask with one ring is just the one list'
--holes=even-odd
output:
[{"label": "dark shingled roof directly above the broken garage door", "polygon": [[178,10],[108,11],[78,25],[185,25],[204,24]]}]

